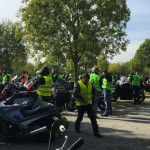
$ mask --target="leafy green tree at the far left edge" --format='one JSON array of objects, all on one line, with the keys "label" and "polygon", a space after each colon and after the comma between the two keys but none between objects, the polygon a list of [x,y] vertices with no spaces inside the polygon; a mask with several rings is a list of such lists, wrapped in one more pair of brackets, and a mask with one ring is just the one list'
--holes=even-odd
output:
[{"label": "leafy green tree at the far left edge", "polygon": [[4,21],[0,24],[0,68],[18,71],[27,63],[25,46],[16,35],[17,25]]}]

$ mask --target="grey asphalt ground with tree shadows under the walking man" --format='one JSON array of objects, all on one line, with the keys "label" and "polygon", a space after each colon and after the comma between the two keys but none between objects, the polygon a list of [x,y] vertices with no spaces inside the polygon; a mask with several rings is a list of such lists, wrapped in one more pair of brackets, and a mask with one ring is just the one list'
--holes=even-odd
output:
[{"label": "grey asphalt ground with tree shadows under the walking man", "polygon": [[[101,113],[99,111],[99,115]],[[76,115],[76,112],[63,113],[69,120],[68,147],[81,137],[85,141],[81,150],[150,150],[150,96],[146,96],[139,105],[128,100],[113,103],[113,115],[97,119],[102,139],[93,136],[90,120],[86,116],[82,121],[82,133],[76,134]],[[59,148],[63,141],[64,137],[53,141],[51,150]],[[34,137],[20,139],[15,143],[0,141],[0,150],[48,150],[48,142],[39,142]]]}]

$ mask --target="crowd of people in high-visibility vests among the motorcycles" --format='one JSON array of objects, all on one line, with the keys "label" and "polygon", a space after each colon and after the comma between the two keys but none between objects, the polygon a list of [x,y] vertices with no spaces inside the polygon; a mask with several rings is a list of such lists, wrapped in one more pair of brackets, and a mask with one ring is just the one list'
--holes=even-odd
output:
[{"label": "crowd of people in high-visibility vests among the motorcycles", "polygon": [[[101,73],[101,74],[100,74]],[[3,86],[9,83],[21,82],[24,85],[27,81],[31,80],[30,74],[22,71],[21,75],[11,75],[8,71],[0,71],[0,82]],[[113,113],[111,104],[111,91],[114,84],[118,83],[122,86],[124,83],[130,83],[133,88],[138,89],[143,82],[148,82],[149,78],[145,79],[138,73],[129,76],[115,76],[107,70],[100,71],[98,67],[92,68],[90,73],[82,74],[77,83],[74,84],[73,74],[58,73],[57,70],[51,70],[49,67],[44,67],[36,72],[36,78],[33,83],[34,90],[45,102],[49,102],[51,97],[52,87],[57,85],[58,80],[63,79],[70,84],[70,90],[75,98],[77,106],[77,119],[75,121],[76,133],[81,133],[80,126],[85,112],[91,120],[93,127],[93,134],[98,138],[102,138],[99,133],[99,128],[96,119],[98,116],[98,103],[102,91],[104,94],[105,111],[101,116],[110,116]]]}]

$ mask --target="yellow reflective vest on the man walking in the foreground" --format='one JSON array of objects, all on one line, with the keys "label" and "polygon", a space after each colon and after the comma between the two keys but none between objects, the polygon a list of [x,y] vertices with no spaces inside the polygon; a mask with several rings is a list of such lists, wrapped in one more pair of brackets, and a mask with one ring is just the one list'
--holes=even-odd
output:
[{"label": "yellow reflective vest on the man walking in the foreground", "polygon": [[87,104],[92,104],[92,83],[88,82],[86,86],[81,80],[78,81],[80,86],[80,95],[87,100],[87,103],[76,100],[77,106],[83,106]]}]

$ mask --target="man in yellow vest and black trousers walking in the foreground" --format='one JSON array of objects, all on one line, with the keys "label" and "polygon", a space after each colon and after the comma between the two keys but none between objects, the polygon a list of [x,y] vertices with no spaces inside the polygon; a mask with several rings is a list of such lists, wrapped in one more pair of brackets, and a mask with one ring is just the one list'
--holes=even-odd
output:
[{"label": "man in yellow vest and black trousers walking in the foreground", "polygon": [[99,133],[96,117],[92,107],[92,93],[94,93],[94,88],[89,80],[90,75],[87,73],[83,74],[81,76],[81,80],[79,80],[74,87],[74,97],[76,99],[76,106],[78,110],[78,116],[75,121],[75,131],[76,133],[81,133],[80,124],[84,113],[87,112],[91,120],[94,136],[102,138],[102,135]]}]

